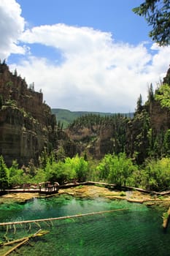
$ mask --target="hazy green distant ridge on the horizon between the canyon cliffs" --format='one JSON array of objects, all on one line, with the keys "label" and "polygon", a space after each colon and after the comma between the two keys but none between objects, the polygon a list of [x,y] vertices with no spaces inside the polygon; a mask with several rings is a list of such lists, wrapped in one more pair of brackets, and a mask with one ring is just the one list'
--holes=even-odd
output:
[{"label": "hazy green distant ridge on the horizon between the canyon cliffs", "polygon": [[[52,108],[52,113],[55,114],[57,122],[63,124],[63,128],[68,127],[76,118],[88,114],[96,114],[100,116],[114,116],[117,113],[104,113],[104,112],[90,112],[90,111],[71,111],[62,108]],[[122,113],[125,116],[133,118],[134,113]]]}]

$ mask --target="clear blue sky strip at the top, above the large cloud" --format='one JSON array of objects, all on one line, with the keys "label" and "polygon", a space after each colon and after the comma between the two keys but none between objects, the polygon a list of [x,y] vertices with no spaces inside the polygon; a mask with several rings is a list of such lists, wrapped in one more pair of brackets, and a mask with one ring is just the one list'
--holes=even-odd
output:
[{"label": "clear blue sky strip at the top, above the large cloud", "polygon": [[[116,40],[148,40],[149,28],[132,8],[141,0],[18,0],[29,26],[65,23],[112,32]],[[140,29],[139,29],[140,28]]]}]

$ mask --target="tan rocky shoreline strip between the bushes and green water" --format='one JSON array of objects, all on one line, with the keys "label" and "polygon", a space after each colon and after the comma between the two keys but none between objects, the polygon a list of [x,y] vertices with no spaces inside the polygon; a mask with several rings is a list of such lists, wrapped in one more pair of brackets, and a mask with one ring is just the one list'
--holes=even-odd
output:
[{"label": "tan rocky shoreline strip between the bushes and green water", "polygon": [[[120,191],[95,185],[80,185],[77,187],[63,188],[59,189],[57,194],[50,196],[58,197],[60,195],[87,197],[91,199],[96,197],[104,197],[109,200],[127,200],[131,203],[145,203],[147,206],[162,204],[163,206],[169,207],[170,204],[170,195],[151,195],[149,193],[144,193],[136,190]],[[8,201],[24,203],[25,201],[30,200],[34,197],[47,197],[47,195],[39,195],[39,193],[32,192],[9,193],[0,197],[0,204],[7,203]]]}]

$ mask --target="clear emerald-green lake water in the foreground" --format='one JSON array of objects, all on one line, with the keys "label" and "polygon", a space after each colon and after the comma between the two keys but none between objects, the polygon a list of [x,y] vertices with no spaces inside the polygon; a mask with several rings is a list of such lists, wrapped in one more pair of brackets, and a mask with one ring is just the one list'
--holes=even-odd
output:
[{"label": "clear emerald-green lake water in the foreground", "polygon": [[[43,219],[95,211],[128,208],[76,219],[53,221],[41,228],[50,230],[45,236],[34,238],[31,245],[22,246],[19,255],[31,256],[118,256],[170,255],[170,232],[163,233],[162,208],[147,208],[124,200],[80,200],[73,197],[34,199],[28,203],[1,204],[0,222]],[[8,231],[0,228],[0,240],[7,231],[9,238],[28,236],[39,230],[36,225],[17,225]],[[7,249],[6,249],[7,251]],[[0,255],[4,249],[0,249]],[[11,255],[15,255],[12,253]]]}]

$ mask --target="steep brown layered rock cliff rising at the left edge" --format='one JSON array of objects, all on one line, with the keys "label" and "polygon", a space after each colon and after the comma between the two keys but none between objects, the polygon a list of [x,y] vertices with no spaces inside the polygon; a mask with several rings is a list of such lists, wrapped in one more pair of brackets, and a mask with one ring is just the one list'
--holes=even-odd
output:
[{"label": "steep brown layered rock cliff rising at the left edge", "polygon": [[43,103],[42,93],[28,89],[26,81],[0,64],[0,154],[7,165],[18,159],[37,162],[44,148],[56,144],[55,116]]}]

